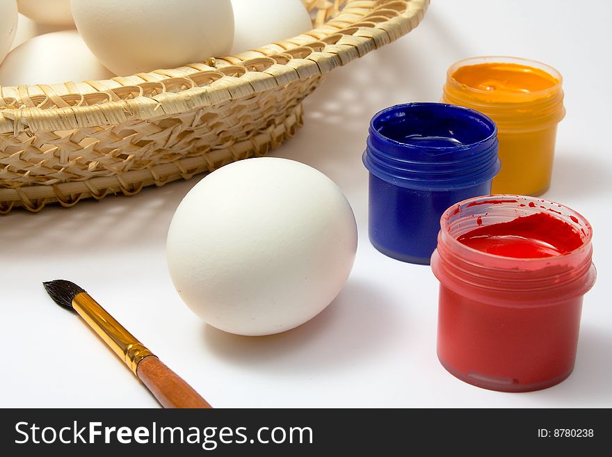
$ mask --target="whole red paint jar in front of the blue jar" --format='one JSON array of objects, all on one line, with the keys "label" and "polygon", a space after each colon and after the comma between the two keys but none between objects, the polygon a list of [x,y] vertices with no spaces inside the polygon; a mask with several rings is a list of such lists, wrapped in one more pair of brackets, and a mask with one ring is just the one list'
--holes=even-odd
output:
[{"label": "whole red paint jar in front of the blue jar", "polygon": [[[458,241],[478,227],[533,214],[569,225],[578,245],[554,257],[521,258]],[[444,368],[466,383],[504,392],[540,390],[570,376],[583,295],[596,275],[588,221],[547,200],[489,195],[453,205],[440,225],[431,268],[440,280],[437,355]],[[548,232],[554,241],[556,230]]]}]

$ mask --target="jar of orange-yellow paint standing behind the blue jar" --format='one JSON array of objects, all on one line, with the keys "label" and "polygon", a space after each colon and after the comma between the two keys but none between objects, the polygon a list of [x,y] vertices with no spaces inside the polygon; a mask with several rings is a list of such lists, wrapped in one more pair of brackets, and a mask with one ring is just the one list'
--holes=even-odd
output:
[{"label": "jar of orange-yellow paint standing behind the blue jar", "polygon": [[550,186],[557,124],[565,115],[561,74],[514,57],[454,63],[442,101],[467,106],[497,124],[501,171],[492,193],[540,195]]}]

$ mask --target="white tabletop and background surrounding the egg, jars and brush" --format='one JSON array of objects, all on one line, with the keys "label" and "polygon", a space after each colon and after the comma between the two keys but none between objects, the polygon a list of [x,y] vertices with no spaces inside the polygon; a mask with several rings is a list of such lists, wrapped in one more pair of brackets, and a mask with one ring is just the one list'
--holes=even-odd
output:
[{"label": "white tabletop and background surrounding the egg, jars and brush", "polygon": [[[305,102],[305,126],[275,155],[318,168],[346,193],[360,241],[351,278],[315,319],[271,337],[206,326],[166,271],[166,232],[198,182],[134,197],[0,217],[1,406],[156,407],[154,398],[78,316],[41,282],[67,278],[216,407],[612,406],[610,75],[612,3],[433,0],[405,38],[335,70]],[[435,355],[437,281],[367,238],[361,162],[373,113],[440,99],[446,68],[479,55],[533,58],[563,77],[553,184],[545,198],[586,216],[599,279],[585,297],[574,374],[540,392],[481,390]]]}]

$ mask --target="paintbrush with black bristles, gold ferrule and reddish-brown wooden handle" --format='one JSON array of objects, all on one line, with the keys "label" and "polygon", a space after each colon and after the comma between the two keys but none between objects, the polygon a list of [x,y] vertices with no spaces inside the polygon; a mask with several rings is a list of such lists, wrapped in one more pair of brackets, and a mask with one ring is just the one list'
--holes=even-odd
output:
[{"label": "paintbrush with black bristles, gold ferrule and reddish-brown wooden handle", "polygon": [[63,307],[76,311],[113,349],[164,408],[211,408],[198,392],[166,367],[91,296],[66,280],[43,282],[47,293]]}]

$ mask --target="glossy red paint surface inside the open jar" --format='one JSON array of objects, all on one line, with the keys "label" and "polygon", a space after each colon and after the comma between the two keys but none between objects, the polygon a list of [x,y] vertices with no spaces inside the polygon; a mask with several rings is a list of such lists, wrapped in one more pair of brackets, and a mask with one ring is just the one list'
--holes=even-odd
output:
[{"label": "glossy red paint surface inside the open jar", "polygon": [[[478,225],[483,225],[480,216]],[[537,259],[567,254],[582,246],[582,236],[572,225],[546,213],[485,225],[462,234],[460,243],[488,254]]]}]

